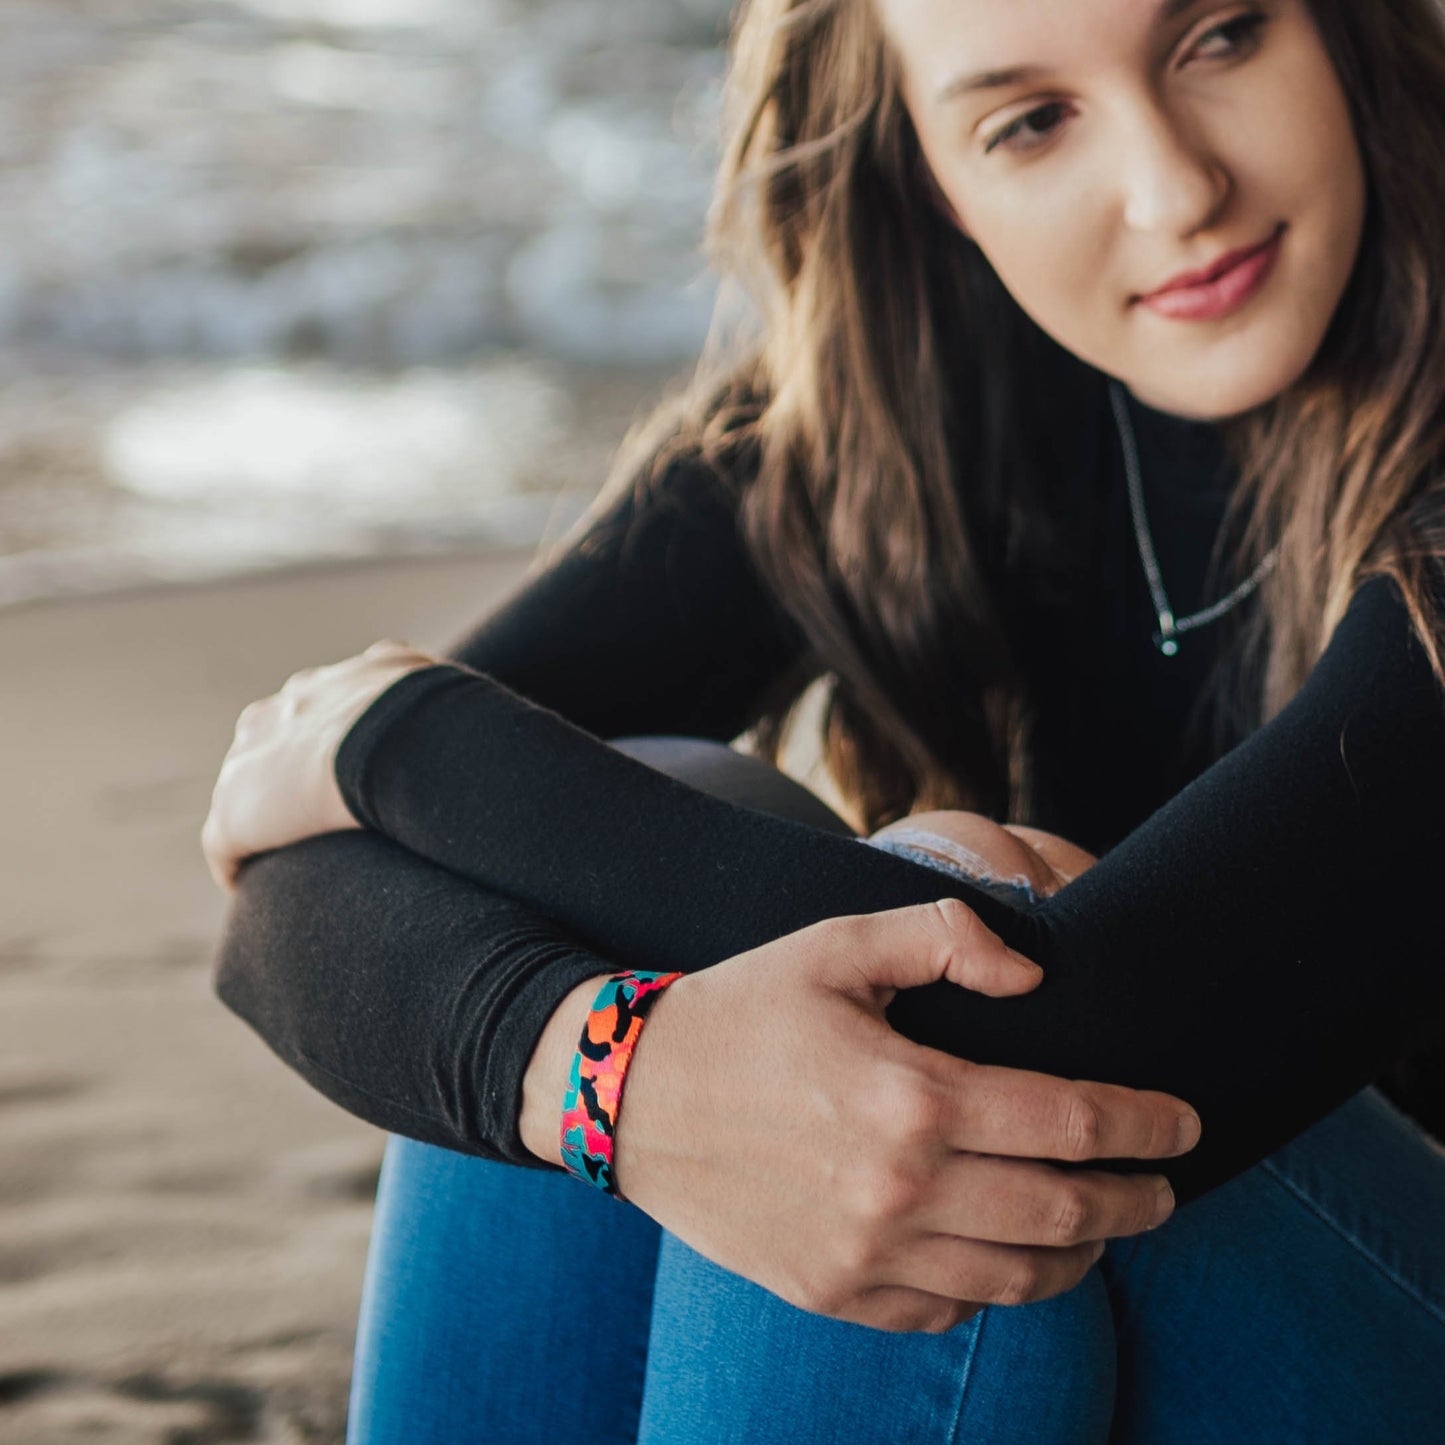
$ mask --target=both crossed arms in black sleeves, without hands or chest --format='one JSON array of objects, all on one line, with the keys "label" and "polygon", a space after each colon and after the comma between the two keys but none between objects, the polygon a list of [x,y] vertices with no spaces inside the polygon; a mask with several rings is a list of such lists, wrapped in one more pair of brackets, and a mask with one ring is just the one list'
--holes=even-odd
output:
[{"label": "both crossed arms in black sleeves, without hands or chest", "polygon": [[[1263,1157],[1439,1026],[1431,897],[1445,864],[1445,708],[1389,581],[1361,588],[1277,718],[1084,877],[1013,909],[708,798],[600,741],[730,737],[746,722],[738,699],[795,657],[796,639],[747,578],[699,577],[704,553],[676,527],[657,536],[682,595],[721,592],[741,634],[717,663],[699,653],[692,676],[669,678],[669,705],[647,701],[659,639],[623,649],[639,672],[621,662],[605,699],[568,699],[559,659],[520,646],[527,627],[513,623],[545,607],[549,587],[618,616],[626,574],[588,571],[574,553],[565,566],[578,575],[553,569],[457,663],[403,678],[348,734],[338,777],[371,831],[244,871],[223,997],[340,1103],[415,1137],[535,1163],[516,1131],[520,1074],[581,980],[611,959],[707,968],[822,918],[941,892],[1038,961],[1045,983],[1007,1001],[905,990],[894,1027],[981,1064],[1188,1100],[1204,1140],[1165,1166],[1181,1198]],[[633,540],[646,551],[647,530]],[[669,613],[653,588],[637,626],[696,636],[686,605]],[[629,696],[643,701],[629,709],[617,701]]]}]

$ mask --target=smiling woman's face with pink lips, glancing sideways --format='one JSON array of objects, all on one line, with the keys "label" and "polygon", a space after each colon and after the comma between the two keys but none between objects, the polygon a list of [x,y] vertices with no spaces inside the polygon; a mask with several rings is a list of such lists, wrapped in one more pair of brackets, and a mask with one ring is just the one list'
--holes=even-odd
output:
[{"label": "smiling woman's face with pink lips, glancing sideways", "polygon": [[[1366,212],[1305,0],[873,4],[941,199],[1051,337],[1185,416],[1248,410],[1303,374]],[[1142,299],[1276,233],[1212,296],[1175,292],[1191,316]]]}]

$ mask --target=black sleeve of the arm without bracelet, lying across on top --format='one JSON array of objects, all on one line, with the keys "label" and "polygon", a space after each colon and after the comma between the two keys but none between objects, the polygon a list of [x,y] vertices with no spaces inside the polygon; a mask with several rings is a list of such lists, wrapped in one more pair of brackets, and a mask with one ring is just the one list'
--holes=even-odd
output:
[{"label": "black sleeve of the arm without bracelet, lying across on top", "polygon": [[[368,827],[630,967],[704,968],[829,915],[965,899],[1045,983],[1012,1000],[909,990],[893,1023],[980,1062],[1188,1100],[1204,1139],[1166,1166],[1181,1199],[1322,1117],[1445,1012],[1445,707],[1384,578],[1279,717],[1035,909],[707,796],[465,668],[397,682],[338,777]],[[449,971],[418,987],[447,993]],[[538,987],[565,991],[561,974]]]}]

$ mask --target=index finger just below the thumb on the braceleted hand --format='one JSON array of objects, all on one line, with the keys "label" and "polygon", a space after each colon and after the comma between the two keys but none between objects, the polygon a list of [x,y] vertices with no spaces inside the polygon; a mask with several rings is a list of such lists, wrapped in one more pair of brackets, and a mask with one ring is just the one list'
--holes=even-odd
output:
[{"label": "index finger just below the thumb on the braceleted hand", "polygon": [[1183,1100],[1118,1084],[952,1059],[954,1149],[1027,1159],[1168,1159],[1199,1142]]}]

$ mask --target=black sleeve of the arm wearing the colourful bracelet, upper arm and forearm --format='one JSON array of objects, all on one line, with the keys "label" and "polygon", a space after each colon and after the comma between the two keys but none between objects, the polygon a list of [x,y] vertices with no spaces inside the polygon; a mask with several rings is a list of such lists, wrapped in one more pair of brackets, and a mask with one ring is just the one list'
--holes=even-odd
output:
[{"label": "black sleeve of the arm wearing the colourful bracelet, upper arm and forearm", "polygon": [[[731,484],[695,460],[594,509],[449,655],[579,728],[722,741],[806,665],[801,634],[747,562]],[[384,694],[367,727],[384,730],[405,701]],[[507,740],[491,746],[510,767]],[[519,842],[535,837],[523,829]],[[522,1075],[558,1000],[617,967],[504,893],[374,832],[328,834],[243,867],[215,988],[358,1117],[559,1168],[522,1143]]]}]

